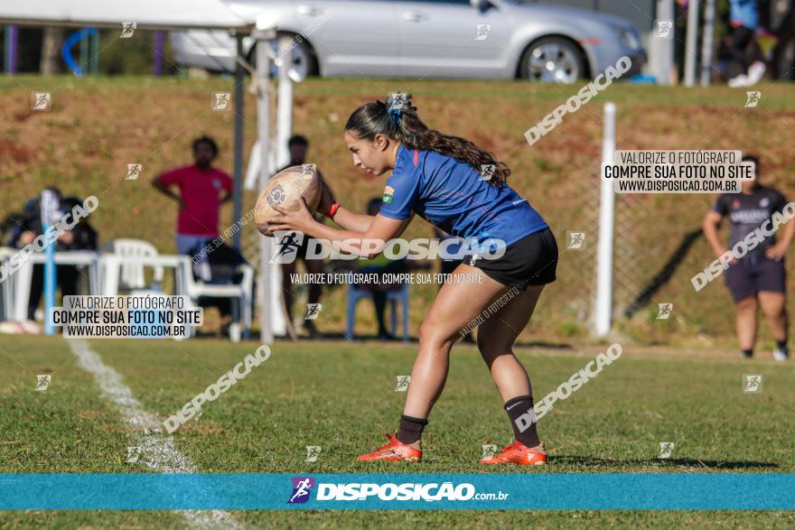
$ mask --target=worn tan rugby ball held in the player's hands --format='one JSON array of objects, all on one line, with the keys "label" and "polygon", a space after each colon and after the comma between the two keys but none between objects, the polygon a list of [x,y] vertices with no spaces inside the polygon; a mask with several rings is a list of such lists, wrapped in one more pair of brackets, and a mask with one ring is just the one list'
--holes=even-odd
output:
[{"label": "worn tan rugby ball held in the player's hands", "polygon": [[320,177],[313,163],[294,165],[276,173],[267,182],[265,188],[259,192],[257,206],[254,207],[254,222],[257,224],[257,230],[263,236],[273,237],[265,219],[282,217],[282,214],[273,207],[278,206],[282,209],[298,211],[300,208],[298,200],[302,196],[306,200],[306,206],[314,213],[317,205],[320,204],[321,191]]}]

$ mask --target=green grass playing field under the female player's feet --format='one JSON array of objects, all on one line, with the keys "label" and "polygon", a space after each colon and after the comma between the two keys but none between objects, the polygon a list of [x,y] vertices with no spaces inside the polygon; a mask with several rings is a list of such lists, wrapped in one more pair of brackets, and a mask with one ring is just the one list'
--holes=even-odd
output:
[{"label": "green grass playing field under the female player's feet", "polygon": [[[215,340],[94,340],[90,347],[122,376],[149,413],[163,420],[257,348]],[[546,395],[585,366],[597,347],[519,348]],[[387,463],[355,462],[381,432],[397,426],[405,394],[396,377],[410,372],[416,345],[277,342],[271,357],[206,404],[201,418],[173,434],[174,446],[200,472],[388,472]],[[0,471],[156,472],[128,464],[139,432],[123,421],[94,378],[59,338],[0,337]],[[412,472],[491,472],[477,464],[482,444],[510,442],[500,398],[476,349],[454,349],[450,377],[426,428],[426,460]],[[744,374],[762,374],[761,394],[744,394]],[[36,375],[51,374],[46,391]],[[768,360],[740,361],[717,350],[650,350],[625,346],[622,358],[539,423],[551,454],[545,469],[517,473],[795,472],[791,422],[795,371]],[[674,442],[659,460],[659,442]],[[306,463],[305,446],[321,446]],[[281,495],[282,492],[276,493]],[[538,492],[543,495],[543,492]],[[569,528],[782,527],[785,512],[234,512],[249,527]],[[181,527],[171,512],[6,512],[0,527]]]}]

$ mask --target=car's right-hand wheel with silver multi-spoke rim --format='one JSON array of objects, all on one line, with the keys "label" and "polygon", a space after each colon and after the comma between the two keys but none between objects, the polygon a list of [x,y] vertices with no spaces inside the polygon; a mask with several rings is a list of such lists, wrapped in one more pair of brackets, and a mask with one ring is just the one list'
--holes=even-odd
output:
[{"label": "car's right-hand wheel with silver multi-spoke rim", "polygon": [[522,54],[519,77],[530,81],[571,84],[585,77],[585,63],[574,42],[544,37]]}]

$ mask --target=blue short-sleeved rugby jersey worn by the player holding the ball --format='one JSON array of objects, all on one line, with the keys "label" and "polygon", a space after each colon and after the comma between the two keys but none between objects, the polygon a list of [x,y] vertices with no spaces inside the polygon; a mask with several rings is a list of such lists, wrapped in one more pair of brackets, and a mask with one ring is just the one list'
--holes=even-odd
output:
[{"label": "blue short-sleeved rugby jersey worn by the player holding the ball", "polygon": [[448,234],[479,243],[493,237],[510,245],[548,226],[508,185],[497,188],[467,163],[401,144],[379,213],[408,219],[412,211]]}]

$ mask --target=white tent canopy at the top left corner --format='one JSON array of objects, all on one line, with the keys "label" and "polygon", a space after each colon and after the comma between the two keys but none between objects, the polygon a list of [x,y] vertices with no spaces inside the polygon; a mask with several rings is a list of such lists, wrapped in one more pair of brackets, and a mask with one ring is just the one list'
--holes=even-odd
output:
[{"label": "white tent canopy at the top left corner", "polygon": [[0,22],[137,29],[243,29],[248,23],[220,0],[2,0]]}]

